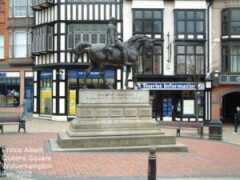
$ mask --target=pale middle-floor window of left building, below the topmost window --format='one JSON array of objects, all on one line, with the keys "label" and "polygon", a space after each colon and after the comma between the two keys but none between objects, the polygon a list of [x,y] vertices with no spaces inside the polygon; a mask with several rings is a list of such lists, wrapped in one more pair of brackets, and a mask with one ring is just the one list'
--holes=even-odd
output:
[{"label": "pale middle-floor window of left building, below the topmost window", "polygon": [[31,57],[31,32],[14,31],[10,33],[10,58]]}]

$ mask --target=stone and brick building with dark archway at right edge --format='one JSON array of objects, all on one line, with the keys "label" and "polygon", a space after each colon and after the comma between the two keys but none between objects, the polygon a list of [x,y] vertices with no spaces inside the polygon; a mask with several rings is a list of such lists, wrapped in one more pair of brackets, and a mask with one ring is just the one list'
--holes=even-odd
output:
[{"label": "stone and brick building with dark archway at right edge", "polygon": [[210,25],[212,119],[232,123],[240,105],[240,1],[214,0]]}]

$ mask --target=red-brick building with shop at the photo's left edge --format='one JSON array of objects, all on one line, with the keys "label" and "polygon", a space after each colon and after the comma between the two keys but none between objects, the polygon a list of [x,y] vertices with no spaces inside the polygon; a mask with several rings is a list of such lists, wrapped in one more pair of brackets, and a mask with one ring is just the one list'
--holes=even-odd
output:
[{"label": "red-brick building with shop at the photo's left edge", "polygon": [[0,111],[32,107],[31,0],[0,1]]}]

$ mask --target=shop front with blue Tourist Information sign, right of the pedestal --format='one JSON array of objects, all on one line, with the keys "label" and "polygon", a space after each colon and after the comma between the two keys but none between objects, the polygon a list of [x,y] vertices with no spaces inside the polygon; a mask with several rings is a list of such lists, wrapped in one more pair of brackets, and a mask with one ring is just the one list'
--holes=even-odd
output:
[{"label": "shop front with blue Tourist Information sign, right of the pedestal", "polygon": [[203,82],[138,82],[149,90],[153,117],[160,121],[204,121],[209,102]]}]

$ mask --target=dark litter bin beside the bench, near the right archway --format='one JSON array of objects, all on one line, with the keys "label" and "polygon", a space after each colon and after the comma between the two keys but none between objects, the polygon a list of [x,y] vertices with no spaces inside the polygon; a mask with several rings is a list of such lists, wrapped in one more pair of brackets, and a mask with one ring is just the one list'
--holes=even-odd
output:
[{"label": "dark litter bin beside the bench, near the right archway", "polygon": [[220,120],[211,120],[209,122],[209,139],[222,140],[222,122]]}]

